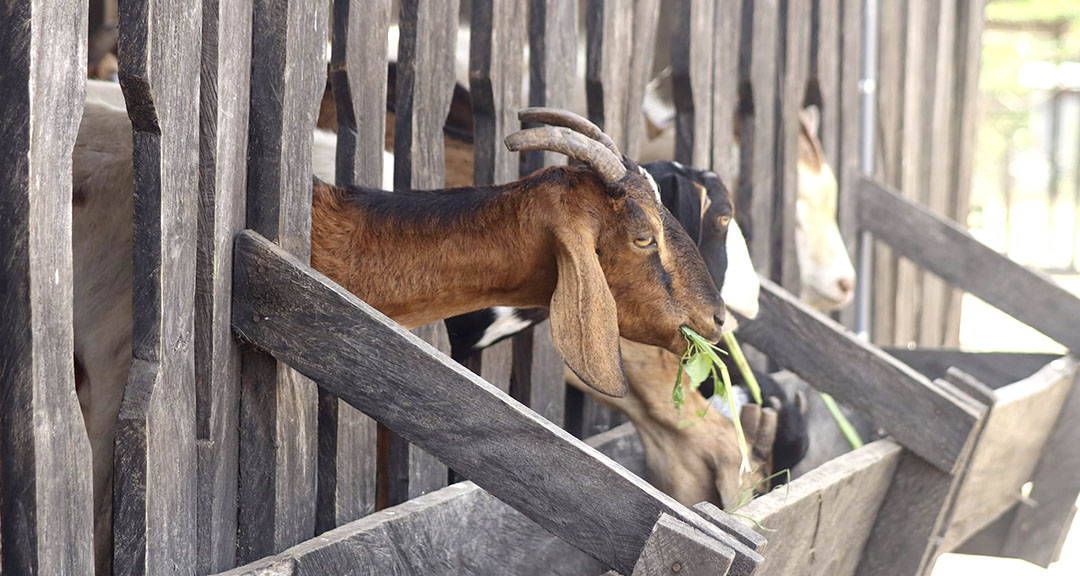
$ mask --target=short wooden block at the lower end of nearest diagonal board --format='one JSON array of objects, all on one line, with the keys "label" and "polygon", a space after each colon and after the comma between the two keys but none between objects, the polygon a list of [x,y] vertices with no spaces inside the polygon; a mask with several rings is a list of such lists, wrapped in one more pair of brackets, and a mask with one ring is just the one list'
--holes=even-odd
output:
[{"label": "short wooden block at the lower end of nearest diagonal board", "polygon": [[642,550],[642,558],[634,565],[633,575],[723,576],[728,574],[734,555],[734,550],[667,514],[660,514]]}]

